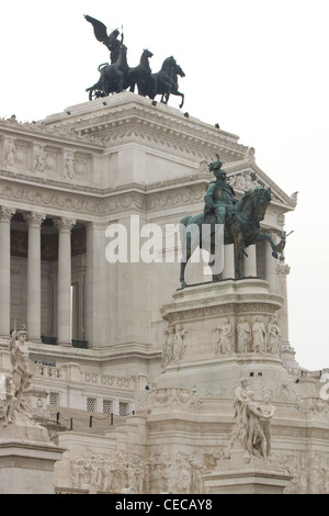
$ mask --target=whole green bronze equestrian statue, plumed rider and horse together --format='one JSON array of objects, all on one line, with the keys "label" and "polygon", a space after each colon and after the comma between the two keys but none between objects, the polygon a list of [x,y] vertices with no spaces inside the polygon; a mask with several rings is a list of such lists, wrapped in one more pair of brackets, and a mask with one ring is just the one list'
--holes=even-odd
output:
[{"label": "whole green bronze equestrian statue, plumed rider and horse together", "polygon": [[[260,240],[268,240],[272,247],[272,256],[277,258],[277,248],[270,234],[261,232],[260,221],[265,216],[266,209],[271,202],[271,188],[257,187],[245,192],[238,200],[234,189],[226,180],[226,171],[222,168],[223,162],[219,155],[217,160],[208,165],[216,178],[207,186],[204,201],[204,212],[198,215],[189,215],[181,220],[181,244],[184,250],[181,260],[180,282],[186,287],[185,267],[196,247],[206,248],[211,257],[216,257],[216,232],[224,228],[224,245],[234,244],[235,276],[237,279],[245,278],[241,271],[241,258],[245,248]],[[190,231],[189,226],[198,231]],[[203,238],[203,232],[207,227],[211,236],[209,242]],[[204,245],[207,242],[207,245]],[[217,249],[218,253],[218,249]],[[218,254],[217,254],[218,256]],[[216,258],[215,258],[216,259]],[[211,259],[209,266],[214,266]],[[219,274],[213,274],[214,281],[219,281]]]}]

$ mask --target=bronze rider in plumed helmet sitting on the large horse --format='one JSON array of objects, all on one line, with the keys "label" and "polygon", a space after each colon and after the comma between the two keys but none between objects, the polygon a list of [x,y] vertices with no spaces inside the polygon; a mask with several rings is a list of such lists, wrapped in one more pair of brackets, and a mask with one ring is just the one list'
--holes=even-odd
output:
[{"label": "bronze rider in plumed helmet sitting on the large horse", "polygon": [[216,224],[225,224],[226,215],[235,213],[235,204],[238,202],[235,191],[226,180],[226,171],[222,168],[223,162],[218,154],[217,161],[211,162],[208,169],[214,173],[216,181],[212,181],[206,189],[204,197],[205,218],[211,213],[215,213]]}]

